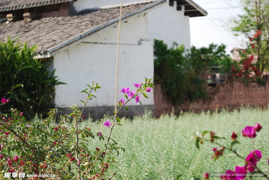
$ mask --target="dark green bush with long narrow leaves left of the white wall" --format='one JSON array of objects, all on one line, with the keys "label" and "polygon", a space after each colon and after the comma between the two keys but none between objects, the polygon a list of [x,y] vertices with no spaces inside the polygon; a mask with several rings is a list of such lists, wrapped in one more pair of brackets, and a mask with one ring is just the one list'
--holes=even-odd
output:
[{"label": "dark green bush with long narrow leaves left of the white wall", "polygon": [[10,38],[0,42],[0,97],[10,100],[0,111],[8,113],[10,108],[17,108],[26,117],[33,117],[51,108],[54,86],[64,83],[56,79],[55,70],[49,73],[47,66],[34,59],[36,46],[15,43]]}]

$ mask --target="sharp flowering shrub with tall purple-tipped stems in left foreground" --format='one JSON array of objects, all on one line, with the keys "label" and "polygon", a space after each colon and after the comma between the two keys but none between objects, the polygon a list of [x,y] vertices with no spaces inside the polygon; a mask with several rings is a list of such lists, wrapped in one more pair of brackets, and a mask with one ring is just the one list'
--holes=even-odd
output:
[{"label": "sharp flowering shrub with tall purple-tipped stems in left foreground", "polygon": [[[88,100],[92,100],[100,86],[96,83],[82,92],[87,94],[86,101],[82,101],[83,110],[78,110],[77,105],[72,105],[69,109],[73,113],[65,114],[57,126],[51,126],[50,123],[55,118],[56,109],[51,109],[48,118],[43,122],[27,122],[23,117],[23,112],[17,109],[11,109],[11,113],[0,113],[0,167],[2,172],[12,174],[12,177],[19,177],[21,172],[26,174],[36,174],[37,177],[30,179],[80,179],[104,180],[105,172],[111,163],[115,163],[115,157],[112,154],[119,155],[123,147],[115,140],[111,139],[111,133],[115,125],[120,124],[121,119],[117,117],[119,111],[124,107],[128,110],[126,104],[132,99],[140,102],[140,94],[145,98],[153,88],[151,79],[145,79],[145,83],[134,84],[136,91],[129,91],[129,88],[123,88],[126,102],[123,99],[119,101],[120,109],[115,113],[113,121],[109,119],[104,126],[110,128],[108,135],[97,132],[94,133],[90,128],[78,129],[78,123],[83,116],[83,110]],[[121,91],[121,92],[122,92]],[[96,97],[95,97],[96,98]],[[2,105],[9,103],[9,100],[2,99]],[[141,102],[140,102],[141,104]],[[65,123],[73,117],[73,125],[66,127]],[[95,138],[105,140],[104,147],[96,147],[94,150],[88,149],[88,139]],[[111,141],[112,142],[111,142]],[[15,156],[11,156],[15,154]],[[45,174],[54,174],[55,177],[42,177]],[[3,175],[3,174],[1,174]],[[0,177],[1,177],[0,175]],[[116,173],[114,172],[111,179]],[[11,177],[9,177],[11,178]],[[26,179],[26,177],[21,177]]]}]

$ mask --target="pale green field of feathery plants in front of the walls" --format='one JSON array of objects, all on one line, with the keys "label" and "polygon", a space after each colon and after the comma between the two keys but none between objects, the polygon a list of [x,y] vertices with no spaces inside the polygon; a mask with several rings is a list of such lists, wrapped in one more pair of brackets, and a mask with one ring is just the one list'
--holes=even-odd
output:
[{"label": "pale green field of feathery plants in front of the walls", "polygon": [[[93,132],[102,132],[108,135],[109,128],[102,125],[107,119],[99,123],[82,122],[81,126],[91,128]],[[227,138],[219,143],[229,146],[232,132],[238,134],[241,144],[235,145],[239,154],[246,157],[251,151],[251,140],[242,136],[245,126],[254,126],[260,123],[263,129],[257,133],[254,140],[254,149],[259,149],[263,157],[258,162],[258,167],[264,172],[269,172],[268,166],[268,141],[269,141],[269,110],[259,108],[242,108],[239,112],[222,111],[220,113],[183,113],[179,117],[163,115],[159,119],[150,118],[150,112],[142,117],[122,119],[124,126],[116,126],[112,132],[112,139],[119,142],[124,148],[116,158],[116,164],[111,165],[107,176],[114,171],[118,176],[115,179],[149,179],[169,180],[182,174],[181,179],[192,177],[203,178],[204,172],[224,172],[234,170],[235,166],[243,166],[244,160],[238,157],[221,157],[216,162],[211,159],[212,148],[217,147],[205,143],[200,150],[194,145],[195,132],[213,130]],[[104,142],[98,139],[89,141],[90,149],[104,147]],[[224,154],[230,154],[225,151]],[[114,179],[114,178],[113,178]],[[214,179],[220,179],[214,178]]]}]

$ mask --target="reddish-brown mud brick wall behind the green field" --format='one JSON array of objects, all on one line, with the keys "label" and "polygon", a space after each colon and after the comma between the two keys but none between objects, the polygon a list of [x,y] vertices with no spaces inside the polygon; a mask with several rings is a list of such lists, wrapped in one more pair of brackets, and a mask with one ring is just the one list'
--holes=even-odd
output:
[{"label": "reddish-brown mud brick wall behind the green field", "polygon": [[172,108],[175,114],[179,114],[181,110],[194,111],[215,111],[218,108],[226,108],[229,110],[240,109],[241,105],[258,105],[265,107],[269,103],[269,86],[260,86],[258,83],[249,83],[244,86],[243,82],[236,79],[227,79],[223,83],[217,84],[216,88],[208,89],[208,98],[199,99],[192,103],[182,103],[173,106],[171,101],[167,99],[165,93],[161,90],[161,85],[154,86],[154,104],[155,117],[159,118],[164,112],[170,113]]}]

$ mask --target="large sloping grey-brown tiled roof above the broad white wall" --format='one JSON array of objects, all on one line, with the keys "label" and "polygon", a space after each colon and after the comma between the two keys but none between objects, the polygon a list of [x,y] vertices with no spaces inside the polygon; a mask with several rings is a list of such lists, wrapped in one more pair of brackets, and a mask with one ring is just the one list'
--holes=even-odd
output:
[{"label": "large sloping grey-brown tiled roof above the broad white wall", "polygon": [[[122,8],[122,19],[162,2],[164,1],[125,6]],[[2,22],[0,23],[0,41],[4,41],[6,36],[10,36],[12,40],[19,38],[22,42],[27,41],[29,47],[37,44],[37,52],[40,53],[41,51],[41,54],[47,51],[52,52],[59,46],[68,45],[112,24],[111,22],[118,22],[119,12],[120,7],[99,8],[95,11],[84,11],[67,17],[46,17],[32,21]]]}]

